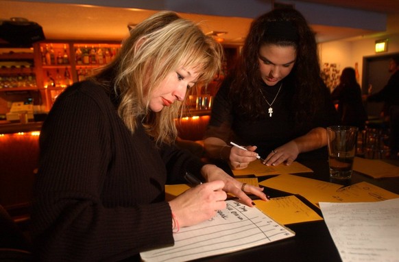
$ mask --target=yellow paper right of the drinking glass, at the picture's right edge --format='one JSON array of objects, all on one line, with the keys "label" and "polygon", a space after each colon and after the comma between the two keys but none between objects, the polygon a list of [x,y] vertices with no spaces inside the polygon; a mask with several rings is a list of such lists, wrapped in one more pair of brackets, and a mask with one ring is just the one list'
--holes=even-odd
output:
[{"label": "yellow paper right of the drinking glass, at the picture's right edge", "polygon": [[355,157],[353,170],[372,178],[394,178],[399,176],[399,167],[383,160]]}]

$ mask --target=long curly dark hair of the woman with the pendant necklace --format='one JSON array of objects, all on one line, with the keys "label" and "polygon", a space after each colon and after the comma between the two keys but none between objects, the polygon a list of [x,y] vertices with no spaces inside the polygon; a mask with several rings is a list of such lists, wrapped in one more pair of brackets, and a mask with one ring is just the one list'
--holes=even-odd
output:
[{"label": "long curly dark hair of the woman with the pendant necklace", "polygon": [[[282,26],[279,23],[289,25],[288,30],[280,30]],[[259,49],[267,44],[295,49],[294,67],[282,81],[294,85],[291,106],[295,122],[311,119],[317,103],[322,103],[326,85],[320,76],[315,34],[304,16],[293,8],[271,10],[252,22],[237,67],[231,75],[230,97],[241,97],[237,103],[247,117],[257,118],[266,113],[258,91],[263,84],[258,55]]]}]

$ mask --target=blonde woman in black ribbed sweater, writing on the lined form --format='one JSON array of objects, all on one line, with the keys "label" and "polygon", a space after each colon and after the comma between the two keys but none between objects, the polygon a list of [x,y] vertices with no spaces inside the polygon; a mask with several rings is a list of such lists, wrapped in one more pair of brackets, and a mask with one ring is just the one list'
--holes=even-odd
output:
[{"label": "blonde woman in black ribbed sweater, writing on the lined form", "polygon": [[[266,200],[259,187],[177,150],[173,119],[188,89],[220,68],[219,44],[191,21],[159,12],[132,29],[93,78],[66,88],[40,133],[32,212],[38,261],[140,261],[173,232],[213,217],[226,192]],[[208,182],[165,202],[186,171]]]}]

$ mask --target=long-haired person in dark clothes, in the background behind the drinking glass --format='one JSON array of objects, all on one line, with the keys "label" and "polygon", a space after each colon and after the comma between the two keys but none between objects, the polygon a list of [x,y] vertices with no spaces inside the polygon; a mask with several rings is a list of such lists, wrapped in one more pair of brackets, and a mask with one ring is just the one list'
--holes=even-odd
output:
[{"label": "long-haired person in dark clothes, in the background behind the drinking glass", "polygon": [[339,85],[334,89],[331,97],[338,104],[337,109],[343,126],[365,129],[367,112],[363,106],[361,87],[356,82],[356,73],[352,67],[343,69],[339,77]]}]

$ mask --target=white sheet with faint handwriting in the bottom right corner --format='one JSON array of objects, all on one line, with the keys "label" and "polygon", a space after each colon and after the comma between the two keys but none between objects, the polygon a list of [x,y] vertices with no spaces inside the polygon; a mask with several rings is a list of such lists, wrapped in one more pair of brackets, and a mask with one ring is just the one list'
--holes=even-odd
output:
[{"label": "white sheet with faint handwriting in the bottom right corner", "polygon": [[319,204],[343,262],[399,261],[399,198]]}]

